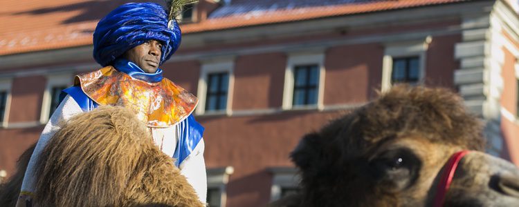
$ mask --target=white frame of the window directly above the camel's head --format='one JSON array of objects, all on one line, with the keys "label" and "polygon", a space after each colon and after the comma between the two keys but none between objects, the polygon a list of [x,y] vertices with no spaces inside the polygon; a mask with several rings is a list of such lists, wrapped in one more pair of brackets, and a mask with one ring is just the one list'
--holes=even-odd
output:
[{"label": "white frame of the window directly above the camel's head", "polygon": [[424,77],[426,77],[427,50],[431,41],[432,37],[428,36],[424,40],[385,44],[382,63],[382,92],[390,90],[392,86],[393,59],[396,58],[419,57],[419,79],[417,83],[424,83]]}]

